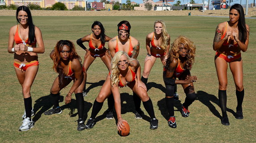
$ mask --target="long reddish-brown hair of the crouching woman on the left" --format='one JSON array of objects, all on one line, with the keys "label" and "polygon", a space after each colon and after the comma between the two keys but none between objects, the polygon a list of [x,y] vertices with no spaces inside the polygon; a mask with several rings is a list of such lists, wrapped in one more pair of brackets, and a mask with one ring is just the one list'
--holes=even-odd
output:
[{"label": "long reddish-brown hair of the crouching woman on the left", "polygon": [[69,46],[70,48],[70,55],[69,60],[73,61],[73,59],[79,59],[81,63],[81,57],[77,54],[75,45],[73,42],[69,40],[60,40],[57,42],[56,46],[54,47],[54,54],[53,54],[53,69],[59,74],[59,86],[60,88],[64,88],[64,82],[63,79],[65,77],[65,73],[63,68],[61,67],[61,61],[60,61],[60,52],[63,48],[63,46]]}]

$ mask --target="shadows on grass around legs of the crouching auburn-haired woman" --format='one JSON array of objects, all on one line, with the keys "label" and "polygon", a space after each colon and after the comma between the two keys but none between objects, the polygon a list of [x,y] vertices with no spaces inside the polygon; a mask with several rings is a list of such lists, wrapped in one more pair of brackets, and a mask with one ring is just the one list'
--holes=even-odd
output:
[{"label": "shadows on grass around legs of the crouching auburn-haired woman", "polygon": [[[60,96],[60,101],[59,102],[63,102],[64,101],[64,97]],[[85,107],[84,107],[84,119],[87,118],[87,113],[89,112],[90,108],[92,107],[92,103],[90,102],[86,102],[84,101]],[[36,113],[34,118],[33,118],[33,122],[37,122],[39,118],[41,118],[42,114],[51,109],[53,106],[52,104],[52,98],[50,95],[47,96],[43,96],[38,98],[35,101],[34,104],[34,112]],[[67,105],[63,105],[60,107],[62,110],[63,109],[70,109],[69,115],[70,117],[76,117],[78,113],[74,113],[75,109],[77,109],[76,107],[76,100],[72,99],[71,103],[67,104]],[[39,110],[40,109],[40,110]],[[45,115],[47,116],[47,115]]]}]

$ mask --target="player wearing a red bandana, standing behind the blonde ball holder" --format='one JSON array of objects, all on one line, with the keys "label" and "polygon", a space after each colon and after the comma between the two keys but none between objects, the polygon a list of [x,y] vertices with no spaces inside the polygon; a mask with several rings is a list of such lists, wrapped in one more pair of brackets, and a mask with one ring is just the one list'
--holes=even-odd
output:
[{"label": "player wearing a red bandana, standing behind the blonde ball holder", "polygon": [[[125,51],[130,58],[137,59],[140,51],[140,42],[136,38],[130,36],[130,29],[131,25],[128,21],[120,21],[117,25],[118,36],[115,36],[108,42],[109,52],[112,57],[114,57],[115,53],[118,51]],[[113,96],[111,95],[109,98],[111,97]],[[143,114],[141,111],[141,99],[134,92],[132,97],[136,110],[135,118],[141,119],[141,115]],[[112,105],[114,106],[114,99]],[[109,104],[108,110],[111,109],[111,105]]]}]

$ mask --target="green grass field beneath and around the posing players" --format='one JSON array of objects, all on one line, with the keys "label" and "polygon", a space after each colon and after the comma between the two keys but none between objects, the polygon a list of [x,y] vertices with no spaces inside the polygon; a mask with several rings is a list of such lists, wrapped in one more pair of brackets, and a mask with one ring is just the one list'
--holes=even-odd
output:
[{"label": "green grass field beneath and around the posing players", "polygon": [[[36,115],[33,118],[33,129],[20,132],[21,116],[24,112],[21,85],[17,80],[13,68],[13,54],[7,52],[9,29],[16,25],[16,18],[0,17],[0,141],[3,143],[71,143],[71,142],[141,142],[141,143],[168,143],[168,142],[256,142],[256,20],[246,19],[250,26],[250,39],[247,52],[243,57],[243,75],[245,97],[243,101],[243,120],[235,119],[236,96],[235,84],[232,74],[228,69],[227,107],[230,126],[223,126],[220,121],[221,109],[218,106],[218,79],[214,66],[215,51],[212,48],[215,28],[218,23],[227,21],[228,18],[217,17],[33,17],[43,34],[45,53],[39,54],[39,70],[31,88],[33,106]],[[185,35],[191,38],[196,45],[196,60],[192,68],[192,75],[198,76],[195,91],[198,99],[189,107],[191,112],[188,118],[180,114],[180,105],[184,102],[183,88],[178,85],[180,101],[175,102],[175,116],[177,128],[172,129],[167,125],[168,112],[165,105],[164,83],[162,80],[162,63],[158,59],[148,80],[148,94],[153,101],[154,111],[159,120],[157,130],[149,130],[148,118],[135,119],[132,113],[135,109],[130,88],[122,88],[121,99],[122,117],[128,121],[131,131],[127,137],[117,134],[115,119],[107,120],[105,111],[107,102],[98,114],[98,121],[93,129],[77,131],[78,118],[75,109],[75,96],[70,105],[60,102],[63,113],[57,115],[44,115],[43,112],[51,108],[49,100],[50,88],[57,74],[52,70],[52,61],[49,54],[56,42],[71,40],[76,42],[91,33],[90,26],[93,21],[101,21],[110,37],[117,35],[119,21],[127,20],[131,23],[131,35],[137,38],[141,44],[138,60],[143,70],[146,56],[145,36],[154,30],[154,21],[162,19],[166,23],[171,42],[179,36]],[[107,44],[106,44],[107,45]],[[88,43],[85,43],[88,47]],[[82,57],[85,51],[77,46],[77,52]],[[92,104],[97,97],[101,85],[107,76],[107,67],[97,58],[87,72],[88,96],[85,97],[85,117],[90,117]],[[70,84],[61,91],[61,95],[68,93]],[[145,112],[143,105],[142,110]],[[70,117],[72,115],[72,117]],[[145,115],[148,114],[145,112]]]}]

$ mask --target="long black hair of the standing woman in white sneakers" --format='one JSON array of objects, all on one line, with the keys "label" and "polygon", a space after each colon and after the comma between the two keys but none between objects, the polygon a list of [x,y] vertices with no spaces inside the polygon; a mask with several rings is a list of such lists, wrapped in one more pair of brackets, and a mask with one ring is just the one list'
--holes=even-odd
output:
[{"label": "long black hair of the standing woman in white sneakers", "polygon": [[34,23],[33,23],[33,20],[32,20],[32,15],[30,13],[30,9],[24,5],[20,6],[17,8],[17,11],[16,11],[16,19],[17,19],[17,22],[20,23],[19,19],[18,19],[18,13],[19,11],[25,11],[28,15],[28,25],[29,25],[29,42],[30,43],[33,43],[34,40],[35,40],[35,35],[34,35]]}]

